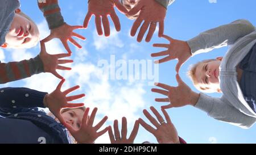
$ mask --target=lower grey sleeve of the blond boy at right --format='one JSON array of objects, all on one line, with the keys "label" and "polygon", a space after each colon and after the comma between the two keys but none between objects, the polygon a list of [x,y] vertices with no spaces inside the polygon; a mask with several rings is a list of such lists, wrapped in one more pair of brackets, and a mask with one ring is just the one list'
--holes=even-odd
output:
[{"label": "lower grey sleeve of the blond boy at right", "polygon": [[228,100],[225,100],[223,97],[214,98],[201,93],[195,107],[207,112],[214,119],[241,128],[250,128],[256,122],[256,118],[243,114],[237,108],[225,102],[228,102]]}]

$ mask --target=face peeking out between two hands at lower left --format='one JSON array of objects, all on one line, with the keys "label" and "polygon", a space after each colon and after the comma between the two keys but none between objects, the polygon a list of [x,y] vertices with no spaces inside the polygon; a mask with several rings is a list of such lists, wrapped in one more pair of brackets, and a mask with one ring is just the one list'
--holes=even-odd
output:
[{"label": "face peeking out between two hands at lower left", "polygon": [[81,127],[84,111],[81,108],[73,108],[61,113],[61,116],[63,116],[65,122],[71,125],[73,129],[78,130]]}]

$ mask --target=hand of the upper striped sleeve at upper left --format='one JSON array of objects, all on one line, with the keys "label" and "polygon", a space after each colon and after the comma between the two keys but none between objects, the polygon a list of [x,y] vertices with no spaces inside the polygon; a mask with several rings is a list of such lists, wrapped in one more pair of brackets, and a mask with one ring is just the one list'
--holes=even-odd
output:
[{"label": "hand of the upper striped sleeve at upper left", "polygon": [[82,29],[82,26],[69,26],[68,24],[63,24],[63,26],[60,26],[58,28],[54,28],[51,30],[51,34],[47,36],[45,39],[42,41],[44,43],[52,40],[53,38],[59,38],[61,43],[64,45],[65,49],[68,51],[69,54],[71,54],[71,49],[68,46],[68,41],[70,41],[73,45],[75,45],[77,48],[82,48],[79,43],[76,42],[72,38],[72,36],[75,36],[79,39],[85,40],[85,37],[73,32],[76,29]]}]

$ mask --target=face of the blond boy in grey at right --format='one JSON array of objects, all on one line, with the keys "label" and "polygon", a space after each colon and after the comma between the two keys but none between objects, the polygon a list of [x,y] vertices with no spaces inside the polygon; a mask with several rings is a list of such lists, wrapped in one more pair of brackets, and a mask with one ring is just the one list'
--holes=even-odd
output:
[{"label": "face of the blond boy in grey at right", "polygon": [[201,62],[196,67],[195,77],[200,87],[220,91],[220,64],[222,58],[214,61]]}]

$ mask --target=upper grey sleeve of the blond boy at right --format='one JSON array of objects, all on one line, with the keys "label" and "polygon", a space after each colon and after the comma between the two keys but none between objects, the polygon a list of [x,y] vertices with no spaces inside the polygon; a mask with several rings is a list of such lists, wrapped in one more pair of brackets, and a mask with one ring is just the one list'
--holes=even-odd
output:
[{"label": "upper grey sleeve of the blond boy at right", "polygon": [[234,44],[238,39],[255,31],[255,27],[248,20],[236,20],[217,28],[200,33],[200,35],[188,40],[192,55],[212,51]]}]

